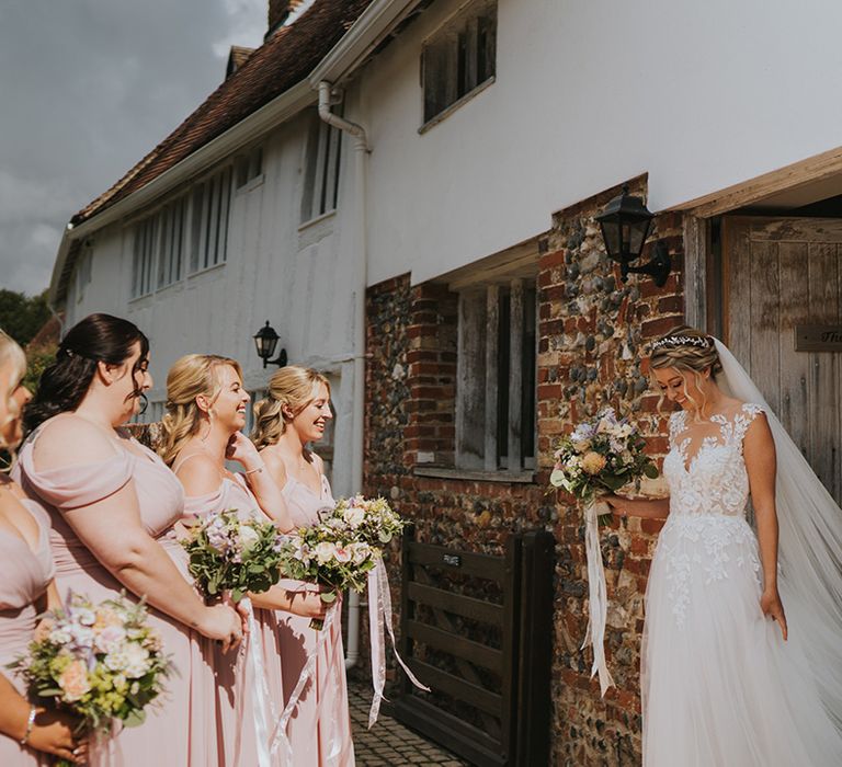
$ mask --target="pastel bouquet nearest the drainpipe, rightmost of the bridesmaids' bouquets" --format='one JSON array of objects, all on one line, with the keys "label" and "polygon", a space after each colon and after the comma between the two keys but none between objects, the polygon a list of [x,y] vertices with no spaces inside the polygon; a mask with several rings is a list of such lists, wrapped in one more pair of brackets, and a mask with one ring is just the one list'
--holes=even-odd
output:
[{"label": "pastel bouquet nearest the drainpipe, rightmost of the bridesmaids' bouquets", "polygon": [[[342,499],[320,513],[318,525],[286,536],[282,572],[296,581],[318,583],[322,602],[332,604],[346,588],[365,589],[368,572],[383,558],[383,547],[403,525],[384,499]],[[321,629],[322,621],[314,618],[310,626]]]}]

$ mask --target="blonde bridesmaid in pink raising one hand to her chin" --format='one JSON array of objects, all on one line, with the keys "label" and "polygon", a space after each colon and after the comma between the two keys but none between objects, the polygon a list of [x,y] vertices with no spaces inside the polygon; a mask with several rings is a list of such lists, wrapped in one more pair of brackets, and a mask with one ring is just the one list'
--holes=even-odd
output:
[{"label": "blonde bridesmaid in pink raising one hand to her chin", "polygon": [[[240,432],[249,401],[240,366],[227,357],[189,354],[167,376],[168,412],[160,454],[184,486],[185,525],[213,512],[236,510],[242,517],[265,514],[282,530],[292,527],[278,488]],[[243,473],[230,472],[226,459],[240,463]],[[217,677],[217,707],[225,764],[263,767],[283,762],[280,752],[269,754],[284,702],[275,610],[293,608],[309,620],[321,616],[323,607],[318,595],[293,605],[278,588],[249,597],[255,608],[255,636],[248,637],[239,657],[220,653],[217,659],[217,667],[227,669]],[[265,669],[260,678],[253,676],[252,652],[259,653]]]}]

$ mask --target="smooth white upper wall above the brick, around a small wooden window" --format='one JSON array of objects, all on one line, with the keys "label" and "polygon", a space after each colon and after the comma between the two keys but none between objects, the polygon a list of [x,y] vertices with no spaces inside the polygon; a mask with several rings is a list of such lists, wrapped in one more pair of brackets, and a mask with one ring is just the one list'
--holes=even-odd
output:
[{"label": "smooth white upper wall above the brick, around a small wooden window", "polygon": [[362,76],[369,284],[422,282],[649,172],[660,210],[842,145],[842,4],[499,0],[497,81],[424,135],[436,2]]}]

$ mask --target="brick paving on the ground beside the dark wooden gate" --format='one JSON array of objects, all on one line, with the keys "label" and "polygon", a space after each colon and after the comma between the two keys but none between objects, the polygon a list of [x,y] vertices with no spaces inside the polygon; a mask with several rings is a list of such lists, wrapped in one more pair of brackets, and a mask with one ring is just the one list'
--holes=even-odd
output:
[{"label": "brick paving on the ground beside the dark wooden gate", "polygon": [[372,705],[372,688],[368,685],[351,683],[348,690],[351,705],[351,728],[354,735],[354,752],[359,767],[385,767],[388,765],[412,765],[413,767],[467,767],[454,754],[421,735],[405,728],[383,711],[377,723],[371,729],[368,708]]}]

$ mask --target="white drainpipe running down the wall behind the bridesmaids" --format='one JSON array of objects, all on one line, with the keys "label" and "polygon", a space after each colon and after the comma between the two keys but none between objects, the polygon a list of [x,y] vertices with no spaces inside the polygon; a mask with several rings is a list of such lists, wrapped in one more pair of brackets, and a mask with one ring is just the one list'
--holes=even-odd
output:
[{"label": "white drainpipe running down the wall behind the bridesmaids", "polygon": [[[366,236],[366,157],[368,141],[365,128],[343,119],[330,111],[334,102],[329,82],[319,83],[319,117],[334,128],[349,134],[354,141],[354,199],[356,232],[354,251],[356,270],[354,285],[354,397],[351,435],[351,483],[353,492],[363,490],[363,422],[365,417],[365,289],[367,287],[368,242]],[[353,668],[360,657],[360,595],[351,592],[348,603],[348,650],[345,668]]]}]

